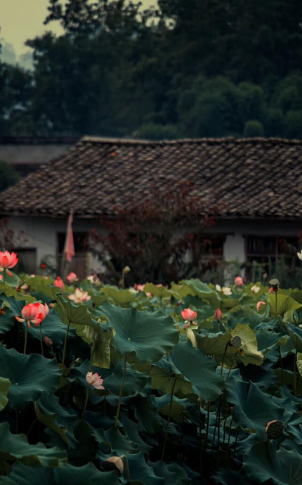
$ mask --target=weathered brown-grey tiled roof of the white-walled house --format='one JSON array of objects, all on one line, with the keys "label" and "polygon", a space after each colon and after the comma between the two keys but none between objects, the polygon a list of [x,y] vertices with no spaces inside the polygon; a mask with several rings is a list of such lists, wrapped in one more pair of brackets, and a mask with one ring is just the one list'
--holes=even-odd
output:
[{"label": "weathered brown-grey tiled roof of the white-walled house", "polygon": [[152,188],[192,181],[218,215],[302,217],[302,141],[203,138],[140,141],[84,137],[0,194],[1,214],[112,214]]}]

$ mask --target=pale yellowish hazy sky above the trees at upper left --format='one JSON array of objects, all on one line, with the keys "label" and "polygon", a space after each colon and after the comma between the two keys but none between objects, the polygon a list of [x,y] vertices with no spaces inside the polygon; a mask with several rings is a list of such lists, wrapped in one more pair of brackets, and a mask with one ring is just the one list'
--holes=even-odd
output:
[{"label": "pale yellowish hazy sky above the trees at upper left", "polygon": [[[143,6],[155,5],[155,0],[143,0]],[[47,15],[48,0],[0,0],[0,38],[13,44],[20,56],[28,51],[26,39],[40,35],[44,30],[60,33],[58,22],[43,25]]]}]

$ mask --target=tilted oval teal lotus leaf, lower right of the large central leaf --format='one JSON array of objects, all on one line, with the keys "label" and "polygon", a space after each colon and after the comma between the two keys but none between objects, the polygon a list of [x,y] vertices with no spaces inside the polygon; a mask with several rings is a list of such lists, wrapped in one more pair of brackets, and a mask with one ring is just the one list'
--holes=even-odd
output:
[{"label": "tilted oval teal lotus leaf, lower right of the large central leaf", "polygon": [[216,372],[217,364],[202,351],[192,347],[191,342],[180,342],[173,347],[171,362],[193,384],[193,392],[205,401],[214,401],[223,387],[223,379]]}]

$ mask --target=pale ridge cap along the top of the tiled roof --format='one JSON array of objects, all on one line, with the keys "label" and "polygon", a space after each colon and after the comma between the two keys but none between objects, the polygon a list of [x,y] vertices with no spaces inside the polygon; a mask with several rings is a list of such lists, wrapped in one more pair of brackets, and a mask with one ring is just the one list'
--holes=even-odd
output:
[{"label": "pale ridge cap along the top of the tiled roof", "polygon": [[135,144],[135,145],[174,145],[177,143],[286,143],[292,145],[302,145],[302,140],[289,138],[235,138],[235,136],[227,136],[225,138],[176,138],[173,140],[147,140],[144,138],[114,138],[103,136],[89,136],[84,135],[79,138],[77,143],[92,142],[92,143],[112,143],[112,144]]}]

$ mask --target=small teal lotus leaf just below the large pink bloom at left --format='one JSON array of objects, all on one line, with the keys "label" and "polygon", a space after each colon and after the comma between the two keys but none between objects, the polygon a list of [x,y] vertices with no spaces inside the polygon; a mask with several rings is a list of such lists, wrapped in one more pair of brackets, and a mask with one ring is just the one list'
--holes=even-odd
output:
[{"label": "small teal lotus leaf just below the large pink bloom at left", "polygon": [[[63,348],[65,335],[66,335],[66,325],[60,321],[60,317],[58,313],[54,310],[51,310],[44,321],[41,323],[42,325],[42,334],[49,337],[55,347]],[[40,329],[37,328],[29,328],[28,332],[33,337],[39,339],[40,338]],[[74,328],[70,328],[68,330],[68,335],[70,337],[74,336],[75,330]]]}]

